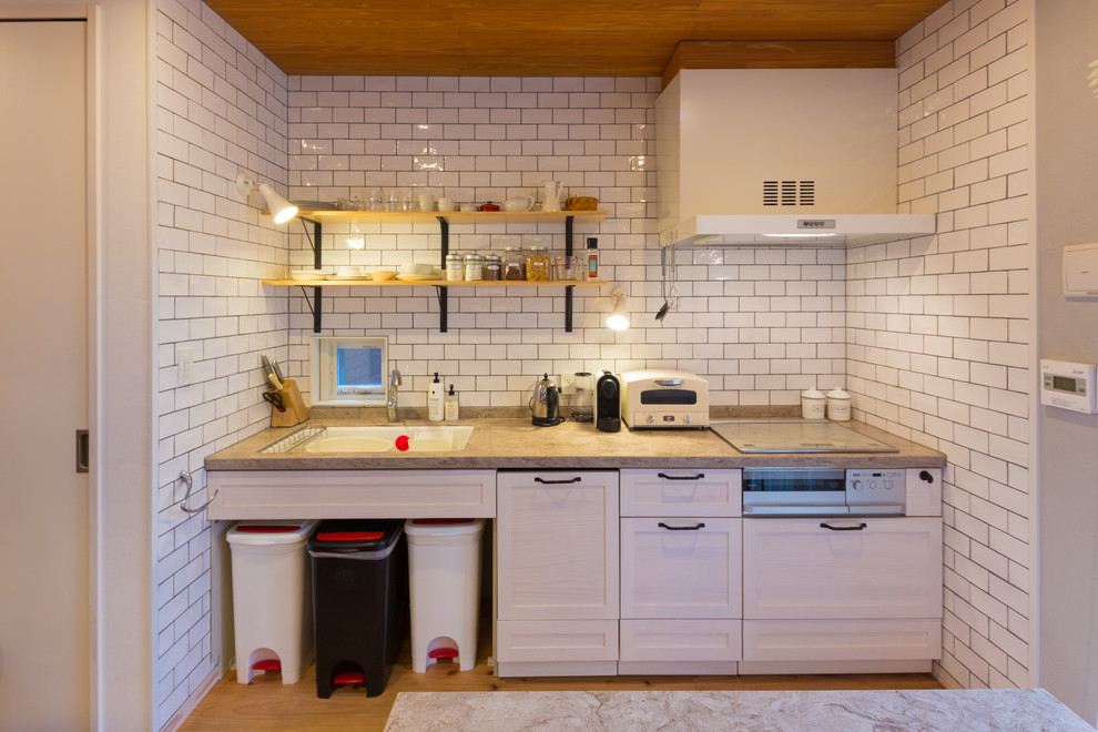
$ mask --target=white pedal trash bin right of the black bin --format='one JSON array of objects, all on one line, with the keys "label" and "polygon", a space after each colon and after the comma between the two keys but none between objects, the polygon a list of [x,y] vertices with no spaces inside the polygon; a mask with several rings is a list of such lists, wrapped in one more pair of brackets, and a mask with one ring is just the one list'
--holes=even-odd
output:
[{"label": "white pedal trash bin right of the black bin", "polygon": [[477,664],[484,519],[408,519],[411,670],[441,659]]}]

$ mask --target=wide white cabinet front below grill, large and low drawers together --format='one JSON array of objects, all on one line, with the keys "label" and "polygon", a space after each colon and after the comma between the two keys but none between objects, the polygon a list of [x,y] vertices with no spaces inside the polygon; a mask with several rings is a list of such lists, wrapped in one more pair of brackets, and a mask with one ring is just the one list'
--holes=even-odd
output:
[{"label": "wide white cabinet front below grill, large and low drawers together", "polygon": [[942,655],[939,518],[748,519],[743,563],[741,673],[925,671]]}]

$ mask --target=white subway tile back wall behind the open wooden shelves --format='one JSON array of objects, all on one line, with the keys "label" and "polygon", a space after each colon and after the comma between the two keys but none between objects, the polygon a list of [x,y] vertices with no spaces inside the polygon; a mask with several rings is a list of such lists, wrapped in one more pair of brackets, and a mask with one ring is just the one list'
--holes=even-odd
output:
[{"label": "white subway tile back wall behind the open wooden shelves", "polygon": [[[433,289],[325,288],[323,333],[385,335],[405,378],[400,405],[424,408],[438,372],[471,406],[521,406],[543,373],[679,368],[705,376],[718,405],[796,404],[809,387],[843,386],[843,250],[679,251],[677,306],[662,322],[657,246],[654,102],[659,79],[292,77],[291,197],[334,201],[394,187],[459,203],[543,201],[542,181],[599,199],[599,289],[578,288],[573,331],[563,291],[451,289],[448,331]],[[289,262],[313,264],[291,227]],[[331,235],[329,235],[331,232]],[[440,265],[437,225],[326,225],[325,267]],[[352,248],[364,244],[363,248]],[[450,251],[546,246],[563,256],[561,224],[451,225]],[[612,332],[608,295],[630,295],[632,327]],[[291,295],[291,357],[308,373],[309,303]],[[410,376],[410,380],[409,380]],[[303,378],[303,386],[306,380]]]}]

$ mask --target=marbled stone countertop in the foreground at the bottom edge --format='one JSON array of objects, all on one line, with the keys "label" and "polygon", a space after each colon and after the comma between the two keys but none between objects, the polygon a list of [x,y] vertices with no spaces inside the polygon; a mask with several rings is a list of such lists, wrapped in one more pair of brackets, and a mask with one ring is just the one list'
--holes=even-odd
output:
[{"label": "marbled stone countertop in the foreground at the bottom edge", "polygon": [[1044,689],[401,692],[386,732],[1094,732]]}]

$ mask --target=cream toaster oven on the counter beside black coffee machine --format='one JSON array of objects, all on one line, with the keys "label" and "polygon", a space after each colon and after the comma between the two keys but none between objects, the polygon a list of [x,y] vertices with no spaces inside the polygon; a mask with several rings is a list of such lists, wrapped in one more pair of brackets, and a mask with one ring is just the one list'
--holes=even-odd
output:
[{"label": "cream toaster oven on the counter beside black coffee machine", "polygon": [[709,425],[709,382],[668,369],[624,372],[621,420],[629,429],[703,428]]}]

